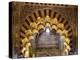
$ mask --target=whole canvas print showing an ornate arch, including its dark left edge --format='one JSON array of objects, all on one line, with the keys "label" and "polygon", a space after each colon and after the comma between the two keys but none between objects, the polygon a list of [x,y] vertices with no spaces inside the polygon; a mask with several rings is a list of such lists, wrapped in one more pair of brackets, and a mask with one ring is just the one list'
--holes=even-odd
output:
[{"label": "whole canvas print showing an ornate arch, including its dark left edge", "polygon": [[9,56],[12,58],[78,54],[78,6],[9,3]]}]

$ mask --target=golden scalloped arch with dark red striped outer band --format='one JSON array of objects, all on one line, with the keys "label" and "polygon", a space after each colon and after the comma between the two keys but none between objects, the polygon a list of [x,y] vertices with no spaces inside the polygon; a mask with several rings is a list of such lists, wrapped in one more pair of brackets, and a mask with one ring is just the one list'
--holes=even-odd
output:
[{"label": "golden scalloped arch with dark red striped outer band", "polygon": [[31,16],[25,19],[20,29],[21,52],[23,57],[35,56],[32,49],[31,41],[35,39],[34,35],[40,33],[40,30],[45,30],[48,27],[52,31],[56,30],[64,40],[64,55],[68,55],[71,50],[70,40],[72,36],[72,28],[68,21],[61,14],[53,12],[50,9],[38,10],[33,12]]}]

